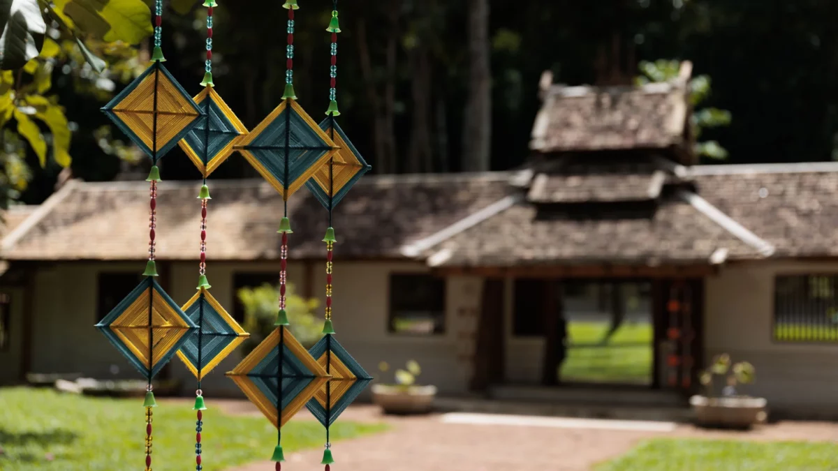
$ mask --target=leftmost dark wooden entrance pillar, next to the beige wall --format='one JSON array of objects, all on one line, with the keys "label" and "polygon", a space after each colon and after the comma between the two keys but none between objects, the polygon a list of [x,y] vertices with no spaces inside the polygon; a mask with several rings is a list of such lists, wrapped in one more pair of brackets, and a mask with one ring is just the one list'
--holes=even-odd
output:
[{"label": "leftmost dark wooden entrance pillar, next to the beige wall", "polygon": [[503,382],[504,351],[504,279],[486,278],[478,308],[477,344],[474,346],[472,391],[485,391]]}]

